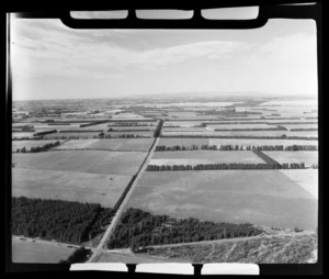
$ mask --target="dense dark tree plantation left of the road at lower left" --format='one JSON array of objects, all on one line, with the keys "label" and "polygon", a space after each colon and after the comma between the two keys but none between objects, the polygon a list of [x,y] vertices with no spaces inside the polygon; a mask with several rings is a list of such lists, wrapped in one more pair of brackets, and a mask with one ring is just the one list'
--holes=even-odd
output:
[{"label": "dense dark tree plantation left of the road at lower left", "polygon": [[13,235],[80,244],[102,233],[112,216],[112,209],[95,203],[12,198]]}]

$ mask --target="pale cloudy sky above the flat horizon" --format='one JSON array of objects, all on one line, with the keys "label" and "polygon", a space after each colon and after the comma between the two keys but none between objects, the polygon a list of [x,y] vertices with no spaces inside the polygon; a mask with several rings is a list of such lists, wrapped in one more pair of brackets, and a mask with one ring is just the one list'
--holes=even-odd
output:
[{"label": "pale cloudy sky above the flat horizon", "polygon": [[256,30],[72,30],[13,19],[13,100],[184,92],[317,96],[316,24]]}]

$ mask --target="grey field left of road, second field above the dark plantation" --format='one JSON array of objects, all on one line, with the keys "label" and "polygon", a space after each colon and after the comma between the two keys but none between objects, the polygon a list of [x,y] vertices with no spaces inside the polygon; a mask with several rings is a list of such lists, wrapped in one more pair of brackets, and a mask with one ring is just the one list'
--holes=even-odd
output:
[{"label": "grey field left of road, second field above the dark plantation", "polygon": [[18,168],[105,175],[135,175],[145,159],[144,152],[56,150],[16,154]]}]

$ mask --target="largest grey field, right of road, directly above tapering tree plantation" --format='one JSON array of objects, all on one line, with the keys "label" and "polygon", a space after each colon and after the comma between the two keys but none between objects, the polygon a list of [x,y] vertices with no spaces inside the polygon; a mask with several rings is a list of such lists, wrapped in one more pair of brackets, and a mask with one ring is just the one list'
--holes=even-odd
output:
[{"label": "largest grey field, right of road, directly above tapering tree plantation", "polygon": [[317,199],[280,170],[146,171],[128,207],[216,222],[317,226]]}]

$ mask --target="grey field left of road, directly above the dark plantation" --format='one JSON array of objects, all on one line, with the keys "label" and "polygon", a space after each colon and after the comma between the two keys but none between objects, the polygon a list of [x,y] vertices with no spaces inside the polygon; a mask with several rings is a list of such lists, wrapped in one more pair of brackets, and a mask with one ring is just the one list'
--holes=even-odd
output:
[{"label": "grey field left of road, directly above the dark plantation", "polygon": [[113,208],[131,179],[132,176],[13,168],[12,196]]}]

